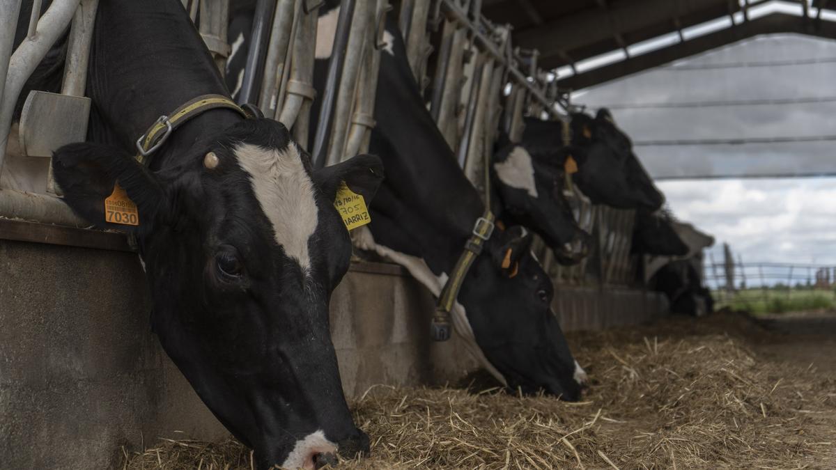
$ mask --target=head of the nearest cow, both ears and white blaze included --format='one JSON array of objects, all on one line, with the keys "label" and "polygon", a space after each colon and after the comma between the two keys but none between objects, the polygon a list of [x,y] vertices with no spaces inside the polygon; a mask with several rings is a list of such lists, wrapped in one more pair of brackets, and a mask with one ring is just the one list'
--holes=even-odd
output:
[{"label": "head of the nearest cow, both ears and white blaze included", "polygon": [[261,468],[319,467],[367,452],[329,334],[329,299],[351,245],[334,196],[374,195],[383,171],[356,156],[313,171],[273,120],[247,120],[152,172],[119,148],[54,155],[64,200],[99,227],[118,183],[136,203],[141,256],[163,347]]}]

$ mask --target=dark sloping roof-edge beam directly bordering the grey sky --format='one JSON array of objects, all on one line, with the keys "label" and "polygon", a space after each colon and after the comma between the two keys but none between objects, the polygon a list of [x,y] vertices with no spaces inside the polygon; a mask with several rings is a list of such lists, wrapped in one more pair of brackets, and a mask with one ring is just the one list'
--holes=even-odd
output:
[{"label": "dark sloping roof-edge beam directly bordering the grey sky", "polygon": [[635,56],[614,64],[592,69],[565,79],[558,79],[561,88],[583,89],[609,80],[619,79],[642,70],[652,69],[678,59],[701,54],[711,49],[735,43],[741,39],[752,38],[758,34],[800,33],[821,38],[836,38],[836,23],[822,22],[818,28],[811,27],[804,18],[782,13],[772,13],[762,18],[752,19],[732,28],[693,38],[684,43],[675,43],[663,49]]}]

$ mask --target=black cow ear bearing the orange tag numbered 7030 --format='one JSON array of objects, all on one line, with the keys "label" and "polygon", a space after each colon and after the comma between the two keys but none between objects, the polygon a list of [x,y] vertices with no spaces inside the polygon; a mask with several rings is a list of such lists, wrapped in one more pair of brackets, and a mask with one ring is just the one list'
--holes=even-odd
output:
[{"label": "black cow ear bearing the orange tag numbered 7030", "polygon": [[52,166],[64,202],[96,227],[147,232],[166,207],[157,178],[118,147],[69,144]]}]

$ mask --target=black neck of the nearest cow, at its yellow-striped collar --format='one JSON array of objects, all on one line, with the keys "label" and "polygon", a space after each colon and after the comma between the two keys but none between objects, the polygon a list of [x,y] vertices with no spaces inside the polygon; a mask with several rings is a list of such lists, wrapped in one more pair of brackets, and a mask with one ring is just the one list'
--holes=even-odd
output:
[{"label": "black neck of the nearest cow, at its yellow-striped collar", "polygon": [[[180,2],[111,0],[99,5],[88,80],[95,104],[92,140],[134,153],[135,140],[160,115],[208,94],[227,95],[227,89]],[[196,116],[155,153],[154,167],[175,164],[196,141],[242,119],[232,110]]]}]

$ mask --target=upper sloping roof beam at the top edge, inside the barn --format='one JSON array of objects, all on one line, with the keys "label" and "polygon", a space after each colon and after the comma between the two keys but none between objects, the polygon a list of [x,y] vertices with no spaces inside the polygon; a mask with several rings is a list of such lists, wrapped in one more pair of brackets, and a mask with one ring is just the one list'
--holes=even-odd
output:
[{"label": "upper sloping roof beam at the top edge, inside the barn", "polygon": [[635,32],[670,22],[677,15],[683,17],[716,6],[717,0],[680,0],[678,4],[670,0],[613,3],[609,6],[612,28],[601,28],[601,12],[596,8],[517,31],[513,43],[523,49],[540,49],[544,58],[553,57],[560,50],[571,51],[614,38],[615,34]]}]

